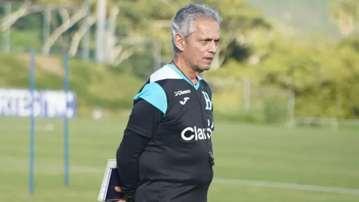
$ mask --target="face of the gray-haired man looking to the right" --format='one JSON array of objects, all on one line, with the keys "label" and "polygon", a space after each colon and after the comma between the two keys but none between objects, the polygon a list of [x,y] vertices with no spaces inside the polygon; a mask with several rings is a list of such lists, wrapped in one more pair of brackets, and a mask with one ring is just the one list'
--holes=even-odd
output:
[{"label": "face of the gray-haired man looking to the right", "polygon": [[217,52],[218,23],[212,19],[197,19],[193,22],[193,28],[194,33],[183,45],[183,56],[196,70],[208,70]]}]

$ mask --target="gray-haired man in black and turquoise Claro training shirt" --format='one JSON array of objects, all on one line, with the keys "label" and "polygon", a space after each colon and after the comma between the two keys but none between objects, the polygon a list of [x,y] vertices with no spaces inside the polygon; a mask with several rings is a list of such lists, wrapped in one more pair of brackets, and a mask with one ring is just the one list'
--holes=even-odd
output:
[{"label": "gray-haired man in black and turquoise Claro training shirt", "polygon": [[198,75],[217,51],[221,17],[212,7],[189,3],[172,18],[174,58],[154,72],[134,97],[116,152],[134,202],[207,202],[213,178],[212,89]]}]

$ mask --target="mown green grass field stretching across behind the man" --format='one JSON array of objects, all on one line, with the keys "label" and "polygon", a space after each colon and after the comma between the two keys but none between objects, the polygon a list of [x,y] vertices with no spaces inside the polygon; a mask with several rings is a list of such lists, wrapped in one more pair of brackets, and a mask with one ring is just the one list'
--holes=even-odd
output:
[{"label": "mown green grass field stretching across behind the man", "polygon": [[[48,123],[53,131],[45,131]],[[70,186],[65,187],[63,121],[36,120],[35,193],[29,196],[29,120],[0,118],[0,201],[96,202],[125,124],[123,119],[69,122]],[[359,201],[358,131],[217,121],[213,144],[209,202]]]}]

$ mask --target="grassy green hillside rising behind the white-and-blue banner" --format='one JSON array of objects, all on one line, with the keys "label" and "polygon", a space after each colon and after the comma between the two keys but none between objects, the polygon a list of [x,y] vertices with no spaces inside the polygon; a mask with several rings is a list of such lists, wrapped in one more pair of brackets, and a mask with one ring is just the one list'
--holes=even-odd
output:
[{"label": "grassy green hillside rising behind the white-and-blue banner", "polygon": [[[28,88],[30,84],[30,54],[0,53],[0,86]],[[35,87],[63,89],[64,60],[62,57],[35,57]],[[128,109],[132,98],[144,81],[121,69],[82,60],[69,61],[69,89],[78,97],[79,116],[94,107],[103,107],[112,113]]]}]

